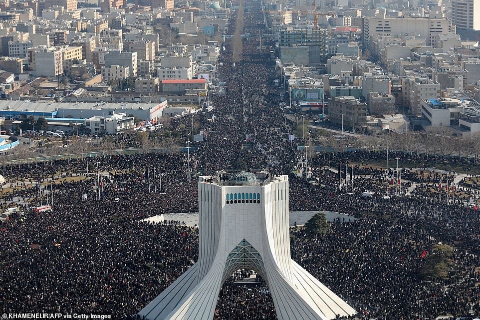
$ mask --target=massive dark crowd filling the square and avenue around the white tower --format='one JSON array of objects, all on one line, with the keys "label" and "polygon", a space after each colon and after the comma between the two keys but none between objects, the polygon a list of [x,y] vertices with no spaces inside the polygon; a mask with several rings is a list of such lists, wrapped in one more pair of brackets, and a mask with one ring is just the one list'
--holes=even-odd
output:
[{"label": "massive dark crowd filling the square and avenue around the white tower", "polygon": [[[259,2],[253,3],[256,6],[244,16],[244,33],[257,34],[265,27]],[[476,160],[390,155],[418,168],[401,169],[401,196],[394,196],[397,185],[390,181],[392,169],[385,173],[366,166],[385,159],[382,152],[321,154],[305,161],[296,144],[288,141],[294,123],[278,107],[281,92],[273,85],[272,48],[268,41],[262,45],[260,54],[258,39],[245,39],[240,61],[234,63],[232,43],[226,42],[219,76],[228,94],[215,95],[211,101],[215,109],[196,115],[207,139],[191,152],[191,170],[185,152],[106,155],[1,168],[0,174],[7,179],[0,193],[1,207],[11,206],[13,199],[26,212],[0,223],[2,312],[129,318],[198,258],[196,228],[141,220],[161,213],[196,212],[194,174],[198,172],[268,168],[273,174],[290,174],[291,210],[337,211],[360,218],[352,223],[336,221],[323,236],[292,231],[291,243],[292,258],[355,307],[356,317],[479,316],[480,218],[468,205],[478,199],[478,190],[457,184],[461,192],[450,192],[448,201],[438,189],[441,182],[454,180],[455,172],[429,169],[439,162],[475,167]],[[180,121],[183,126],[171,125],[186,134],[190,120]],[[96,172],[97,165],[92,168],[96,162],[99,180],[91,174]],[[311,172],[310,179],[291,174],[299,164]],[[363,198],[365,190],[379,196]],[[51,204],[52,198],[53,211],[28,210],[40,202]],[[428,257],[439,242],[453,246],[453,265],[445,277],[425,279],[422,253]],[[256,287],[228,280],[215,319],[276,319],[268,288],[261,280]]]}]

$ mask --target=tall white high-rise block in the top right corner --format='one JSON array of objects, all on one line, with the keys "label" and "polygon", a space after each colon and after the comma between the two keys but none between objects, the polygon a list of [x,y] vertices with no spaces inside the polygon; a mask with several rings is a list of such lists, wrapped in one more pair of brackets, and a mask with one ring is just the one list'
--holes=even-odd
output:
[{"label": "tall white high-rise block in the top right corner", "polygon": [[452,0],[452,23],[459,29],[480,30],[480,0]]}]

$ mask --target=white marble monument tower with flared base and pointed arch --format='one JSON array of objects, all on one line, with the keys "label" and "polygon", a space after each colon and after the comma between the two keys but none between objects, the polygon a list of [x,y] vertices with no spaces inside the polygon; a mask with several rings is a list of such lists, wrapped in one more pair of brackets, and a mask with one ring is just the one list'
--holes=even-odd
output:
[{"label": "white marble monument tower with flared base and pointed arch", "polygon": [[279,320],[329,320],[356,311],[290,258],[288,176],[200,177],[199,260],[139,312],[149,320],[211,320],[223,283],[251,269]]}]

